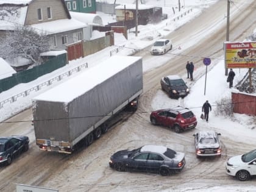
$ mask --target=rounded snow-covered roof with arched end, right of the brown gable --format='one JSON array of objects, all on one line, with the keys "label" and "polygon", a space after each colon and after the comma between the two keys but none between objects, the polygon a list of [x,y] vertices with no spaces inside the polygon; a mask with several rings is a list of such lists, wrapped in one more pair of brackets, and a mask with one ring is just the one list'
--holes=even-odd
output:
[{"label": "rounded snow-covered roof with arched end, right of the brown gable", "polygon": [[71,17],[88,25],[103,25],[101,16],[93,13],[69,12]]}]

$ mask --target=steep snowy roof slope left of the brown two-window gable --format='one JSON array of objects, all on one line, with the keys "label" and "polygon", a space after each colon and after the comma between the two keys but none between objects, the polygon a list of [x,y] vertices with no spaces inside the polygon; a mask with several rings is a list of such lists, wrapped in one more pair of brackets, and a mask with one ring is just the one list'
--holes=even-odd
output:
[{"label": "steep snowy roof slope left of the brown two-window gable", "polygon": [[0,30],[13,30],[16,24],[25,23],[27,6],[12,7],[12,10],[0,10]]}]

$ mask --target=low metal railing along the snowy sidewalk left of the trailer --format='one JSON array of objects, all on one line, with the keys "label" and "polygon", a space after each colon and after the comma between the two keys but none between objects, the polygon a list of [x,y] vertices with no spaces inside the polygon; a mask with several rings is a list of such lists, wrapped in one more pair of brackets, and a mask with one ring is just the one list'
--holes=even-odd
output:
[{"label": "low metal railing along the snowy sidewalk left of the trailer", "polygon": [[4,107],[4,104],[9,103],[9,102],[10,103],[15,102],[20,97],[24,98],[26,96],[29,96],[29,94],[31,92],[33,92],[33,91],[36,92],[38,90],[41,90],[44,87],[48,87],[48,86],[54,84],[55,82],[59,82],[60,80],[65,79],[66,77],[69,77],[74,73],[79,73],[79,71],[81,71],[83,68],[88,68],[88,63],[84,63],[82,65],[79,65],[76,68],[73,68],[73,69],[67,71],[66,73],[60,74],[59,76],[56,76],[52,79],[47,80],[46,82],[43,82],[42,84],[36,85],[35,87],[29,88],[26,91],[15,94],[11,98],[5,99],[4,101],[0,101],[0,110],[1,110],[1,108]]}]

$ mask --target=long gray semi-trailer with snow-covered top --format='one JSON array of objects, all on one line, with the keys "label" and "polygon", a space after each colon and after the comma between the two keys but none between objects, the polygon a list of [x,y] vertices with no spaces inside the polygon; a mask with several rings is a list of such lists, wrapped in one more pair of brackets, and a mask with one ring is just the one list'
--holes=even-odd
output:
[{"label": "long gray semi-trailer with snow-covered top", "polygon": [[141,57],[113,56],[32,99],[36,144],[71,154],[107,132],[106,122],[143,92]]}]

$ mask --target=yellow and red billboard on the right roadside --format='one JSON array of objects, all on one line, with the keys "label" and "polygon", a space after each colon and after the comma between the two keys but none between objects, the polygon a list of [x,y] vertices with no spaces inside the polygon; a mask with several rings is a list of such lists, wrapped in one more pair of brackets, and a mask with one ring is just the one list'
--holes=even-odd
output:
[{"label": "yellow and red billboard on the right roadside", "polygon": [[256,68],[256,41],[225,42],[226,68]]}]

